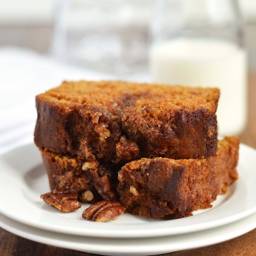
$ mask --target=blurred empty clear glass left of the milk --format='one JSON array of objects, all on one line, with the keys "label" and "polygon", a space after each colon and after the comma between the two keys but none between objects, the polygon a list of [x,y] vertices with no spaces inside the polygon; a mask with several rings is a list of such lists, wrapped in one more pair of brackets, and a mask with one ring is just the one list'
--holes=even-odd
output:
[{"label": "blurred empty clear glass left of the milk", "polygon": [[145,69],[154,0],[59,0],[53,54],[112,74]]}]

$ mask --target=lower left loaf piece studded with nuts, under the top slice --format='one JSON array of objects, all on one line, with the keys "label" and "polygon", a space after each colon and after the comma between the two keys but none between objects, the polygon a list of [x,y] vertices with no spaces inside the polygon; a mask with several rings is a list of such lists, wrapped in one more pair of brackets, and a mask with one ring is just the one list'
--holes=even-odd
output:
[{"label": "lower left loaf piece studded with nuts, under the top slice", "polygon": [[51,190],[68,190],[80,201],[116,201],[119,164],[86,161],[79,157],[55,154],[41,149]]}]

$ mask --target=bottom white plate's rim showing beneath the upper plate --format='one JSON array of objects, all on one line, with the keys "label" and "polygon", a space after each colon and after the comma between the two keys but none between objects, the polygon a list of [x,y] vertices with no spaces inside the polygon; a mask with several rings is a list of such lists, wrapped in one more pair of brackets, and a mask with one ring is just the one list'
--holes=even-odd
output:
[{"label": "bottom white plate's rim showing beneath the upper plate", "polygon": [[155,238],[115,239],[59,234],[15,222],[0,214],[0,226],[18,236],[53,246],[103,255],[155,255],[221,243],[256,228],[256,213],[214,229]]}]

